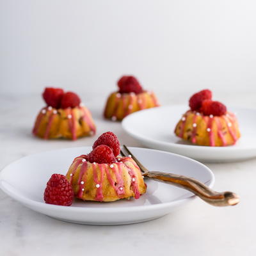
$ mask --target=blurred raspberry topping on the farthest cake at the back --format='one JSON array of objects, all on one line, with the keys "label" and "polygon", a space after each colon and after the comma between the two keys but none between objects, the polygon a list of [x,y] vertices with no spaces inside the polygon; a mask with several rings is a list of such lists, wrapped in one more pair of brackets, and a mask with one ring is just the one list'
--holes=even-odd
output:
[{"label": "blurred raspberry topping on the farthest cake at the back", "polygon": [[143,92],[139,81],[134,76],[122,76],[117,85],[120,93],[134,92],[136,94]]}]

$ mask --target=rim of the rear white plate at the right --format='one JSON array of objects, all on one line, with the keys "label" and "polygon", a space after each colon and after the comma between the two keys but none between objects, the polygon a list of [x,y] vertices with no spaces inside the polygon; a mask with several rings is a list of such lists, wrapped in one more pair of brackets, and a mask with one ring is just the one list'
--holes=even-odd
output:
[{"label": "rim of the rear white plate at the right", "polygon": [[[122,128],[124,129],[125,132],[127,132],[127,134],[129,134],[130,136],[132,136],[132,137],[134,137],[138,140],[149,141],[150,143],[154,143],[154,144],[157,144],[157,145],[163,145],[163,146],[167,146],[167,147],[172,147],[172,148],[181,149],[181,148],[185,147],[186,149],[191,148],[191,150],[193,150],[193,149],[199,150],[200,149],[200,150],[208,150],[208,151],[209,150],[211,150],[211,151],[216,151],[216,150],[226,151],[227,149],[232,150],[232,151],[256,150],[256,145],[255,145],[255,147],[252,146],[252,147],[247,147],[247,148],[232,147],[233,145],[227,146],[227,147],[209,147],[209,146],[200,146],[200,145],[193,145],[193,144],[186,145],[186,144],[177,144],[177,143],[173,143],[173,142],[153,140],[153,139],[145,137],[143,135],[138,135],[134,132],[131,132],[129,129],[127,129],[127,127],[125,127],[126,122],[128,122],[127,120],[133,118],[133,116],[135,116],[135,115],[141,115],[141,113],[143,113],[143,112],[145,113],[145,111],[150,112],[150,111],[157,111],[157,109],[160,109],[160,108],[161,109],[163,109],[163,108],[175,108],[175,107],[177,108],[177,107],[184,107],[184,106],[186,106],[186,105],[184,105],[184,104],[164,105],[164,106],[159,106],[157,108],[149,108],[149,109],[143,109],[142,111],[136,111],[136,112],[134,112],[134,113],[132,113],[128,116],[125,116],[125,118],[122,120]],[[232,106],[232,108],[243,109],[243,110],[248,109],[248,110],[253,110],[253,111],[256,112],[256,108],[243,108],[243,107],[239,107],[239,106]],[[174,129],[174,127],[173,127],[173,129]],[[172,130],[170,130],[170,131],[172,131]],[[171,132],[170,132],[170,134],[171,134]],[[174,134],[174,132],[173,132],[173,134]]]}]

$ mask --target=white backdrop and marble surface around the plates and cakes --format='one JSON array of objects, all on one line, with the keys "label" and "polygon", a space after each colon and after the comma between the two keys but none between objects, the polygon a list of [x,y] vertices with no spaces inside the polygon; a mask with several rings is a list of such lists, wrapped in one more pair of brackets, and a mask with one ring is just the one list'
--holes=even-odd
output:
[{"label": "white backdrop and marble surface around the plates and cakes", "polygon": [[[92,145],[109,130],[142,147],[102,118],[122,74],[136,75],[162,104],[186,104],[208,87],[227,106],[255,108],[255,13],[247,0],[0,0],[0,170],[28,154]],[[96,136],[33,138],[49,85],[81,96]],[[53,220],[0,191],[0,255],[254,256],[256,159],[206,164],[214,189],[236,192],[239,205],[211,207],[197,198],[159,220],[90,227]]]}]

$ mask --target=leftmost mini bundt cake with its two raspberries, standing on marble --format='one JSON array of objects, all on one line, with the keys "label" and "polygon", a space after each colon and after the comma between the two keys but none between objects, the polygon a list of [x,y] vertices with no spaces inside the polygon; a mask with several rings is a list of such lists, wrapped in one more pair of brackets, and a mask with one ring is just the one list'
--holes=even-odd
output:
[{"label": "leftmost mini bundt cake with its two raspberries, standing on marble", "polygon": [[76,140],[95,134],[92,115],[81,104],[76,93],[64,93],[60,88],[45,88],[43,97],[47,106],[36,117],[33,128],[35,136]]}]

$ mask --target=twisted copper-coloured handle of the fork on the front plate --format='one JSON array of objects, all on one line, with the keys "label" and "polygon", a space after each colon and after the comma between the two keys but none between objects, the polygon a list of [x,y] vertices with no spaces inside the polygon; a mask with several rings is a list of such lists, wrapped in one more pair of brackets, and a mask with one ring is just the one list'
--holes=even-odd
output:
[{"label": "twisted copper-coloured handle of the fork on the front plate", "polygon": [[237,196],[235,193],[230,191],[216,192],[205,186],[205,184],[199,180],[186,176],[164,172],[145,172],[143,173],[143,176],[149,179],[171,183],[174,186],[191,191],[208,204],[214,206],[236,205],[240,201],[239,196]]}]

